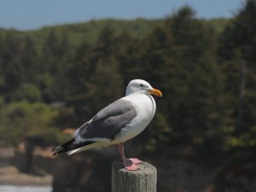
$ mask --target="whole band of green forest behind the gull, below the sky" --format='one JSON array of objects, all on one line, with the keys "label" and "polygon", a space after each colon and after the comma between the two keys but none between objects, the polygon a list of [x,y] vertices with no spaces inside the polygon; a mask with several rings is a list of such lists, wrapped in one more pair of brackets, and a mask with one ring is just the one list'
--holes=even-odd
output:
[{"label": "whole band of green forest behind the gull, below the sky", "polygon": [[134,30],[114,20],[90,35],[85,24],[79,35],[73,25],[2,30],[0,145],[61,141],[61,129],[77,128],[124,96],[131,79],[145,79],[163,92],[140,136],[149,153],[189,145],[215,163],[255,153],[255,18],[249,0],[212,24],[183,7],[164,20],[137,20]]}]

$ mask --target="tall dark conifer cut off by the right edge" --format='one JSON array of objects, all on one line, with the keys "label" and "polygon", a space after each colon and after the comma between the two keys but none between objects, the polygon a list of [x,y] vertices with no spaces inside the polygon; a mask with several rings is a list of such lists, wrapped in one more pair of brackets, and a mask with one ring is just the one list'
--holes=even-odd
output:
[{"label": "tall dark conifer cut off by the right edge", "polygon": [[227,104],[233,121],[224,133],[224,150],[229,154],[229,163],[224,165],[217,175],[216,191],[234,189],[235,184],[237,191],[246,190],[250,181],[255,180],[249,170],[240,176],[249,181],[247,184],[227,178],[241,162],[244,166],[255,165],[255,16],[256,2],[247,0],[225,27],[218,41],[218,60],[225,74],[224,90],[229,96]]}]

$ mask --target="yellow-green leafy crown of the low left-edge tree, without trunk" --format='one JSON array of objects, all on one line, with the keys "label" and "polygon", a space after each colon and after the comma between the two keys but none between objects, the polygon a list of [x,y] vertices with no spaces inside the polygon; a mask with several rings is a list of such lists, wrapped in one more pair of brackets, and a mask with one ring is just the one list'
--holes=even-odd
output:
[{"label": "yellow-green leafy crown of the low left-edge tree, without trunk", "polygon": [[3,145],[17,145],[26,137],[50,135],[55,130],[53,120],[58,111],[43,103],[2,103],[0,110],[0,136]]}]

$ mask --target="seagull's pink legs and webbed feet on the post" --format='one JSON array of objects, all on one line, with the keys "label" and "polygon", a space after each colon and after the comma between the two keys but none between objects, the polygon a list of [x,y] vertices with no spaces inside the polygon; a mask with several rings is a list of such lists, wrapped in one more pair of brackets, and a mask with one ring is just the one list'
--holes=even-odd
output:
[{"label": "seagull's pink legs and webbed feet on the post", "polygon": [[119,154],[121,156],[121,160],[123,161],[123,166],[125,166],[126,170],[129,170],[129,171],[137,170],[137,164],[140,163],[140,160],[137,160],[135,158],[126,159],[123,143],[119,143]]}]

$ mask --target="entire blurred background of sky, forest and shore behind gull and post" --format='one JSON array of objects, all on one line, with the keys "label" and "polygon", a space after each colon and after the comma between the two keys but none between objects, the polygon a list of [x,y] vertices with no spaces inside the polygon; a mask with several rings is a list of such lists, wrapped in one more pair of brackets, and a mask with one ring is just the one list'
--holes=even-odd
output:
[{"label": "entire blurred background of sky, forest and shore behind gull and post", "polygon": [[158,191],[256,191],[255,18],[255,0],[1,1],[0,191],[111,191],[115,146],[51,148],[131,79],[163,92],[125,143]]}]

